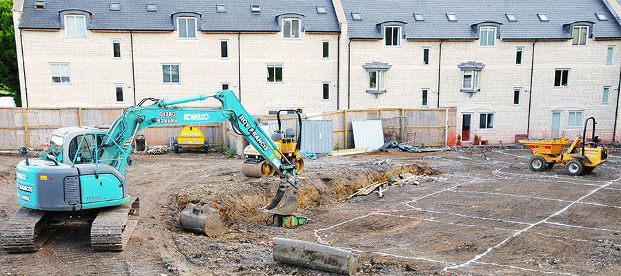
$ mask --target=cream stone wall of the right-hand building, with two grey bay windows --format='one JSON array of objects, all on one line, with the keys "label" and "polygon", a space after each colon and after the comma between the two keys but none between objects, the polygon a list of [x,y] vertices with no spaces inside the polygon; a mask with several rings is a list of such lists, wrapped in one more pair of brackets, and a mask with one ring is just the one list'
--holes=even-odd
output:
[{"label": "cream stone wall of the right-hand building, with two grey bay windows", "polygon": [[[494,47],[481,47],[479,41],[444,41],[440,79],[440,107],[457,109],[457,131],[462,129],[462,114],[471,113],[471,140],[474,135],[492,144],[513,143],[516,134],[526,134],[528,124],[531,58],[534,41],[496,40]],[[351,108],[425,108],[423,88],[429,88],[428,107],[437,107],[438,50],[440,41],[406,41],[400,47],[386,47],[384,41],[351,41]],[[615,46],[613,64],[606,64],[608,46]],[[430,64],[422,65],[423,48],[430,48]],[[515,65],[515,51],[524,48],[522,65]],[[572,46],[571,41],[535,43],[535,66],[531,88],[531,138],[549,138],[552,111],[560,111],[560,132],[573,139],[580,128],[569,128],[569,110],[584,110],[583,120],[595,117],[597,135],[610,141],[613,133],[615,104],[621,67],[621,40],[589,39],[586,46]],[[347,49],[344,49],[347,51]],[[345,57],[347,56],[345,52]],[[379,61],[391,65],[386,72],[386,94],[366,93],[365,63]],[[471,95],[460,92],[462,72],[457,65],[468,61],[484,63],[481,91]],[[346,63],[345,63],[346,66]],[[569,87],[554,88],[554,71],[570,68]],[[346,70],[347,68],[345,68]],[[342,87],[347,86],[347,75]],[[610,86],[609,104],[602,104],[604,86]],[[513,104],[513,89],[522,88],[520,104]],[[342,94],[346,94],[344,92]],[[347,99],[343,99],[347,102]],[[344,107],[346,108],[346,106]],[[493,129],[479,129],[480,112],[493,112]],[[621,130],[620,130],[621,131]],[[617,138],[621,137],[620,131]],[[588,136],[590,137],[590,135]]]}]

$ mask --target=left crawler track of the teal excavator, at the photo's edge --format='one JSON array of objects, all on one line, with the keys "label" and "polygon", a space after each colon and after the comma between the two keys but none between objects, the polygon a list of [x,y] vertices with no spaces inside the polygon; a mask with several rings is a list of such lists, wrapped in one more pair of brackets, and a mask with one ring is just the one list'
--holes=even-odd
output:
[{"label": "left crawler track of the teal excavator, at the photo's edge", "polygon": [[50,224],[46,211],[21,207],[2,226],[2,249],[32,252],[43,246],[61,224]]}]

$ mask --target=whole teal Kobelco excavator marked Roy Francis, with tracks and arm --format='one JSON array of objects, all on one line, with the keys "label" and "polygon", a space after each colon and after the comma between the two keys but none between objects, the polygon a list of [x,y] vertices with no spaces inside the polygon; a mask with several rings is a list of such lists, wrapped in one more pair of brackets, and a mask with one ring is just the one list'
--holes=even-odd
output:
[{"label": "whole teal Kobelco excavator marked Roy Francis, with tracks and arm", "polygon": [[[208,98],[219,100],[221,108],[175,106]],[[147,101],[152,103],[145,105]],[[29,160],[26,148],[20,150],[26,157],[17,164],[16,172],[21,208],[1,228],[3,250],[39,250],[50,230],[64,221],[90,222],[94,250],[124,250],[139,217],[139,199],[131,201],[127,181],[136,133],[157,126],[224,121],[230,121],[235,132],[248,140],[281,177],[275,197],[264,207],[266,212],[279,218],[292,214],[297,210],[299,188],[295,164],[284,158],[233,91],[173,100],[146,98],[124,110],[107,132],[60,128],[52,132],[50,151],[39,158]],[[195,215],[195,221],[201,219],[199,213],[189,215]]]}]

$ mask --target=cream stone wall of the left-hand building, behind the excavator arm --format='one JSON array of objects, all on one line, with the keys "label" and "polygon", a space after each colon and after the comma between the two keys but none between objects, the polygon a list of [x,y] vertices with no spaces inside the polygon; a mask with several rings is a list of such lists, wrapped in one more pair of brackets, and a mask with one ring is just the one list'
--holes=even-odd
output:
[{"label": "cream stone wall of the left-hand building, behind the excavator arm", "polygon": [[[87,32],[86,39],[66,38],[60,31],[23,31],[28,106],[119,107],[146,97],[175,99],[211,95],[222,83],[239,95],[237,33],[201,33],[179,39],[177,32],[134,32],[135,83],[129,32]],[[121,40],[121,59],[112,57],[112,40]],[[228,59],[220,58],[220,41],[228,40]],[[322,41],[331,41],[331,58],[322,59]],[[337,80],[337,34],[242,33],[242,103],[253,114],[268,108],[304,108],[306,113],[336,110],[336,87],[322,99],[322,83]],[[18,42],[18,52],[19,52]],[[71,83],[52,83],[50,63],[70,63]],[[179,83],[164,83],[161,65],[179,64]],[[266,64],[282,63],[283,82],[268,83]],[[21,66],[21,63],[20,63]],[[124,84],[124,102],[115,86]],[[25,91],[22,91],[24,93]],[[190,106],[219,106],[208,100]]]}]

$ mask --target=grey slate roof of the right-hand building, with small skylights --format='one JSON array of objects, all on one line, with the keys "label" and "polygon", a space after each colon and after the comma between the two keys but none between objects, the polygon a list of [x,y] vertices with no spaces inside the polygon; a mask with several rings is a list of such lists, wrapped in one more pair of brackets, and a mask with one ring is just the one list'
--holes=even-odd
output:
[{"label": "grey slate roof of the right-hand building, with small skylights", "polygon": [[[341,0],[348,24],[348,36],[358,39],[382,39],[377,23],[404,21],[406,39],[478,39],[471,24],[482,21],[502,23],[502,39],[571,39],[563,24],[573,21],[594,21],[593,37],[619,38],[621,25],[615,20],[607,0]],[[621,1],[621,0],[618,0]],[[352,19],[359,12],[362,21]],[[598,21],[595,12],[606,15]],[[422,13],[424,21],[415,21],[414,13]],[[450,22],[446,13],[455,13]],[[506,13],[517,21],[510,22]],[[547,22],[539,20],[545,13]]]}]

